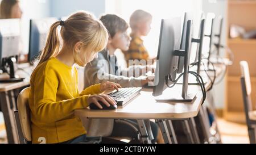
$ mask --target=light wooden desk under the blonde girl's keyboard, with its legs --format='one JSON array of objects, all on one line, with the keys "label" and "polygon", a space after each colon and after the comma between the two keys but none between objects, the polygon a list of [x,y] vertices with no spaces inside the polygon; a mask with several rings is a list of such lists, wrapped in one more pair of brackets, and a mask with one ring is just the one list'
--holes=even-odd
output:
[{"label": "light wooden desk under the blonde girl's keyboard, with its legs", "polygon": [[[167,88],[166,90],[164,90],[163,94],[176,96],[176,92],[179,92],[179,95],[181,95],[181,89],[182,85],[176,85],[172,89]],[[193,103],[156,102],[156,100],[152,96],[152,89],[143,89],[141,91],[141,95],[138,95],[137,98],[131,100],[129,104],[126,104],[126,106],[118,107],[116,110],[80,109],[75,110],[75,115],[79,116],[81,120],[86,120],[88,118],[137,119],[140,127],[139,129],[142,133],[142,140],[144,143],[151,143],[149,138],[150,136],[148,136],[151,133],[151,129],[146,128],[145,124],[148,124],[149,119],[159,120],[158,124],[162,131],[164,141],[165,143],[169,144],[172,143],[172,141],[177,141],[175,140],[176,138],[174,140],[171,140],[170,135],[175,135],[175,133],[173,132],[173,127],[172,125],[170,125],[171,122],[169,122],[169,120],[186,119],[186,122],[189,120],[189,122],[187,123],[187,127],[189,127],[191,129],[191,133],[193,133],[190,133],[191,141],[193,143],[194,137],[192,138],[192,136],[197,135],[197,133],[195,130],[195,122],[193,122],[191,118],[195,117],[198,114],[202,103],[203,95],[199,90],[199,86],[197,85],[189,86],[189,90],[198,91],[196,99],[193,101]]]}]

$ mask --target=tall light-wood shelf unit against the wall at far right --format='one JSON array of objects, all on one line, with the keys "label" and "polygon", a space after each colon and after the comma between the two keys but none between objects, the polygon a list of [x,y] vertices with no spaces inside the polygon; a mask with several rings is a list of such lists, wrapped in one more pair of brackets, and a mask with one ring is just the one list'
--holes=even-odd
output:
[{"label": "tall light-wood shelf unit against the wall at far right", "polygon": [[[245,28],[246,31],[255,30],[256,20],[256,0],[229,0],[227,12],[227,30],[230,31],[232,24],[237,24]],[[234,62],[228,67],[226,104],[224,118],[233,122],[244,123],[245,114],[241,89],[240,61],[245,60],[249,64],[251,76],[251,100],[253,108],[256,109],[256,39],[230,39],[227,35],[228,47],[234,53]]]}]

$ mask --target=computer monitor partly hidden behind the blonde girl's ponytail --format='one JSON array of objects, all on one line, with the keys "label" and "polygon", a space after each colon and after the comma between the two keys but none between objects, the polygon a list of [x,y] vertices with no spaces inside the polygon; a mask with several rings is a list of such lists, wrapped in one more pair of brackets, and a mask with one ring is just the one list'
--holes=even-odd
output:
[{"label": "computer monitor partly hidden behind the blonde girl's ponytail", "polygon": [[28,60],[32,63],[40,55],[46,45],[49,28],[57,18],[43,18],[30,20],[30,45]]}]

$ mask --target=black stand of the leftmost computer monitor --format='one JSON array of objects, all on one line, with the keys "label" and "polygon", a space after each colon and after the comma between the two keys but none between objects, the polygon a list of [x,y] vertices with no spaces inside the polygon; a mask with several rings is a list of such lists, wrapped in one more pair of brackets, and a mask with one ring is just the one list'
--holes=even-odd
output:
[{"label": "black stand of the leftmost computer monitor", "polygon": [[1,78],[0,83],[14,83],[14,82],[22,82],[24,78],[16,78],[14,73],[14,64],[16,62],[15,57],[9,57],[6,59],[6,63],[3,62],[3,64],[8,64],[10,68],[10,78]]}]

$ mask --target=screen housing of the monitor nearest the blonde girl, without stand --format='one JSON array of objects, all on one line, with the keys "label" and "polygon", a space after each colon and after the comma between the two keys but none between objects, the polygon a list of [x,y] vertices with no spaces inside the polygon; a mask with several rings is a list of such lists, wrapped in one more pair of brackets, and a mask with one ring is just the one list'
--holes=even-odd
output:
[{"label": "screen housing of the monitor nearest the blonde girl, without stand", "polygon": [[[153,95],[159,96],[166,89],[166,78],[170,74],[176,78],[177,56],[174,56],[175,49],[180,47],[181,18],[162,19],[160,37],[158,44],[158,56],[155,70]],[[169,81],[168,81],[169,82]]]}]

